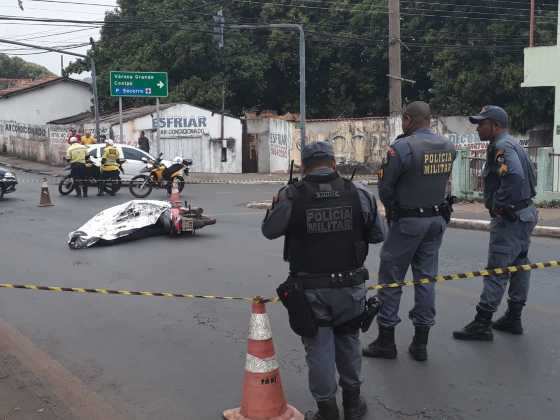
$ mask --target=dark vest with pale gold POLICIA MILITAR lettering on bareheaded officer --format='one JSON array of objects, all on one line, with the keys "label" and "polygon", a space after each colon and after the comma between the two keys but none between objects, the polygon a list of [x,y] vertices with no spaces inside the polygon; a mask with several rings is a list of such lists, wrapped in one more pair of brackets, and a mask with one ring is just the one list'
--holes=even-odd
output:
[{"label": "dark vest with pale gold POLICIA MILITAR lettering on bareheaded officer", "polygon": [[415,134],[398,140],[412,152],[408,170],[396,187],[400,208],[431,208],[445,200],[447,182],[453,169],[455,147],[445,137]]}]

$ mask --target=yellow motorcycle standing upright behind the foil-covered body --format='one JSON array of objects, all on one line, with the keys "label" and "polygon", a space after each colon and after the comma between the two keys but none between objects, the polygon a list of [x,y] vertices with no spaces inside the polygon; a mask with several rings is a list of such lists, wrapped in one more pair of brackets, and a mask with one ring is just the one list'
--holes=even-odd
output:
[{"label": "yellow motorcycle standing upright behind the foil-covered body", "polygon": [[165,188],[171,194],[173,183],[177,183],[179,192],[185,187],[185,176],[189,174],[189,166],[192,160],[182,159],[181,163],[174,163],[167,167],[162,162],[163,153],[160,153],[156,160],[142,158],[146,167],[142,172],[149,172],[149,175],[136,175],[130,181],[130,193],[137,198],[145,198],[152,192],[153,188]]}]

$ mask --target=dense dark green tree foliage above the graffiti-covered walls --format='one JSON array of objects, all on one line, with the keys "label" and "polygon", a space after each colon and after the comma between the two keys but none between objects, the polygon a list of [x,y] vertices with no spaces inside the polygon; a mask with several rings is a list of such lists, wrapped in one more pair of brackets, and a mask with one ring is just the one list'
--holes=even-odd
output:
[{"label": "dense dark green tree foliage above the graffiti-covered walls", "polygon": [[[226,25],[301,23],[306,31],[307,112],[310,117],[388,113],[386,0],[120,0],[108,13],[95,49],[102,109],[114,110],[110,70],[167,71],[169,101],[219,109],[298,112],[298,35],[282,30],[239,31],[226,26],[217,48],[212,16]],[[504,106],[514,128],[552,121],[552,88],[521,88],[528,17],[521,3],[484,0],[401,1],[402,72],[406,101],[429,101],[440,115]],[[540,4],[540,3],[539,3]],[[540,45],[555,43],[556,12],[538,9]],[[467,18],[465,18],[467,17]],[[87,69],[76,62],[71,72]],[[126,98],[127,106],[145,104]]]}]

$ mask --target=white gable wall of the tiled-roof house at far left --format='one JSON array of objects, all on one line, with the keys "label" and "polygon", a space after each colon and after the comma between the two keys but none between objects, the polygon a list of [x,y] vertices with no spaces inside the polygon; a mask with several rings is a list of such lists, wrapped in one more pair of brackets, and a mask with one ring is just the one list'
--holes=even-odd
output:
[{"label": "white gable wall of the tiled-roof house at far left", "polygon": [[0,120],[22,124],[46,124],[90,110],[91,92],[86,86],[59,82],[0,98]]}]

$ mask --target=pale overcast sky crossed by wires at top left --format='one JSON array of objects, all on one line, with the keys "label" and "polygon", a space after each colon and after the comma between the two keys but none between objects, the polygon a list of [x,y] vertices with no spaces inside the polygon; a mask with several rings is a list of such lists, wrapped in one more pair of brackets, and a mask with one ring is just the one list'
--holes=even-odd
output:
[{"label": "pale overcast sky crossed by wires at top left", "polygon": [[[54,19],[103,20],[105,12],[115,8],[116,0],[57,0],[60,3],[38,0],[21,0],[24,10],[18,6],[18,0],[0,0],[0,15],[17,17],[40,17]],[[61,4],[62,2],[90,3],[96,5]],[[52,24],[51,24],[52,25]],[[89,38],[99,39],[99,28],[80,28],[75,26],[51,26],[39,22],[0,21],[0,38],[27,42],[45,46],[62,46],[89,42]],[[65,32],[65,33],[61,33]],[[58,34],[58,35],[56,35]],[[72,49],[73,52],[85,54],[89,47]],[[41,64],[54,74],[60,75],[60,54],[48,52],[36,54],[31,50],[16,45],[0,44],[0,53],[15,56],[26,61]],[[76,58],[65,55],[64,65]],[[86,74],[80,75],[87,76]]]}]

